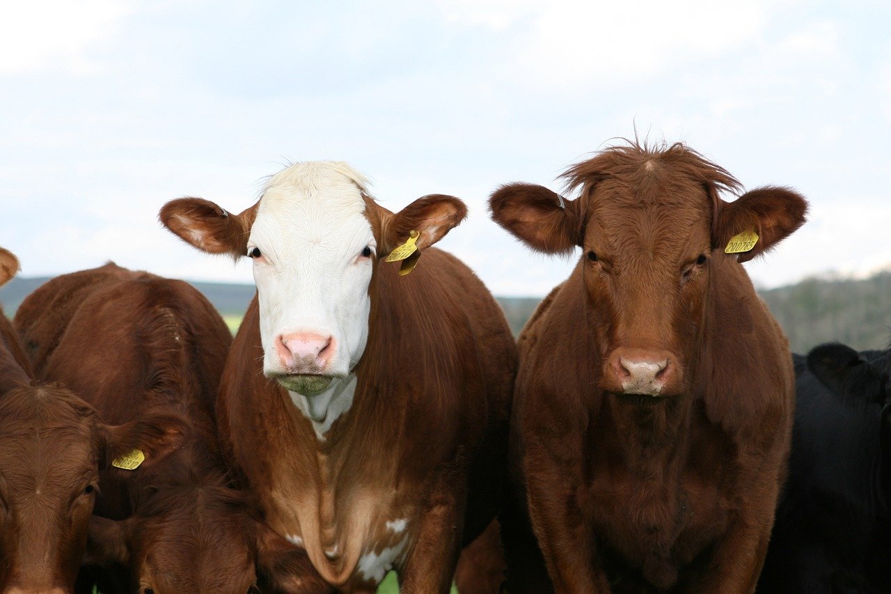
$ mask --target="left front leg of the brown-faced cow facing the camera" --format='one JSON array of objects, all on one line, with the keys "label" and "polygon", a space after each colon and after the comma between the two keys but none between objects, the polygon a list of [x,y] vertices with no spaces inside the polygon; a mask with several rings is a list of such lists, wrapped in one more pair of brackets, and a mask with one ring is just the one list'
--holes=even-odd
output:
[{"label": "left front leg of the brown-faced cow facing the camera", "polygon": [[581,477],[571,471],[571,461],[576,458],[577,467],[580,451],[573,439],[527,445],[529,516],[555,591],[609,592],[606,574],[594,565],[593,532],[576,500]]}]

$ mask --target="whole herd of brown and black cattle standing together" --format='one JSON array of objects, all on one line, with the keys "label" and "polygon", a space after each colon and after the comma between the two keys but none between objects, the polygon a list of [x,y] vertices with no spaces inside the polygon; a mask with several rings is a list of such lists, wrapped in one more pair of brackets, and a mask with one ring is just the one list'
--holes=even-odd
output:
[{"label": "whole herd of brown and black cattle standing together", "polygon": [[[489,201],[581,252],[519,342],[432,247],[462,201],[390,212],[333,161],[240,214],[161,208],[252,260],[234,339],[112,263],[0,315],[0,591],[891,591],[889,354],[790,354],[742,266],[805,200],[725,202],[740,183],[683,144],[564,179]],[[0,249],[0,284],[18,268]]]}]

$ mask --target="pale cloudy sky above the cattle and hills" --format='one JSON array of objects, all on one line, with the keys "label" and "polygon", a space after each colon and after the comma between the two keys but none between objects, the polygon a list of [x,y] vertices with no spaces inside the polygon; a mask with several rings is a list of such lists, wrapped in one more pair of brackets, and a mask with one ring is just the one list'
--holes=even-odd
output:
[{"label": "pale cloudy sky above the cattle and hills", "polygon": [[746,265],[757,286],[865,276],[891,267],[889,23],[885,0],[3,1],[0,245],[22,276],[114,260],[250,283],[159,208],[241,211],[286,163],[332,159],[390,210],[461,197],[470,217],[441,247],[495,294],[543,295],[578,254],[530,252],[488,195],[560,190],[636,131],[811,202]]}]

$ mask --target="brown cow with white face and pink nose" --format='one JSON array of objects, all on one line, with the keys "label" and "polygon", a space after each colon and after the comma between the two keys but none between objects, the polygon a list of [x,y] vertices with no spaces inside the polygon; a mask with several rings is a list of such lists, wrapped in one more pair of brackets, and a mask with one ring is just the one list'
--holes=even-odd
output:
[{"label": "brown cow with white face and pink nose", "polygon": [[219,430],[269,525],[339,590],[395,568],[401,591],[446,592],[500,506],[516,345],[477,276],[430,247],[465,214],[443,194],[390,212],[337,161],[283,169],[241,214],[160,210],[253,262]]}]

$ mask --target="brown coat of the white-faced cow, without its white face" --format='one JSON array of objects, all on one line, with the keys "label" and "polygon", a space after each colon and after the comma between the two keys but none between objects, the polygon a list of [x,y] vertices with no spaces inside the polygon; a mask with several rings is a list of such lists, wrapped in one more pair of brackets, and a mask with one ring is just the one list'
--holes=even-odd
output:
[{"label": "brown coat of the white-faced cow, without its white face", "polygon": [[[177,202],[162,220],[184,216]],[[425,248],[466,212],[440,195],[396,214],[367,196],[365,204],[380,256],[412,229]],[[203,237],[216,226],[196,220],[177,235]],[[459,550],[492,521],[502,497],[516,347],[478,278],[446,252],[423,253],[409,276],[375,262],[355,397],[324,441],[263,375],[256,297],[226,362],[217,402],[226,449],[270,526],[302,538],[339,590],[372,589],[376,582],[356,571],[359,558],[407,535],[405,562],[396,566],[403,591],[446,592]],[[385,528],[397,518],[407,521],[405,534]],[[337,554],[328,558],[331,549]]]}]

